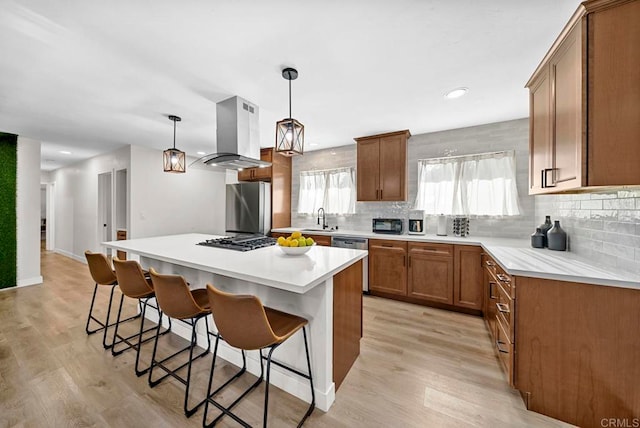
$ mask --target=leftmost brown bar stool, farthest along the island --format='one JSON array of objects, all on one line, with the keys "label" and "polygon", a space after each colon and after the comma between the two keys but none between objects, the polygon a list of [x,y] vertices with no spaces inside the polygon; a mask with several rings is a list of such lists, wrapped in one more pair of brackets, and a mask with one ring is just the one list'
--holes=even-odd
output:
[{"label": "leftmost brown bar stool, farthest along the island", "polygon": [[[89,250],[84,252],[84,256],[87,259],[87,265],[89,266],[89,273],[91,273],[91,277],[95,281],[95,286],[93,287],[93,297],[91,298],[91,306],[89,307],[89,316],[87,317],[87,325],[85,326],[85,331],[87,334],[91,335],[93,333],[97,333],[100,330],[104,330],[104,334],[102,335],[102,346],[104,349],[109,349],[113,346],[113,343],[107,344],[107,330],[109,327],[113,327],[116,323],[109,324],[109,318],[111,317],[111,306],[113,303],[113,292],[115,291],[116,285],[118,285],[118,278],[116,277],[115,272],[111,269],[111,265],[109,264],[109,260],[102,253],[93,253]],[[107,317],[104,322],[99,320],[93,315],[93,306],[96,301],[96,294],[98,291],[98,285],[111,287],[111,294],[109,296],[109,306],[107,307]],[[125,320],[120,320],[119,322],[130,321],[132,319],[138,318],[140,314],[129,317]],[[90,330],[89,325],[91,321],[94,321],[100,327]]]}]

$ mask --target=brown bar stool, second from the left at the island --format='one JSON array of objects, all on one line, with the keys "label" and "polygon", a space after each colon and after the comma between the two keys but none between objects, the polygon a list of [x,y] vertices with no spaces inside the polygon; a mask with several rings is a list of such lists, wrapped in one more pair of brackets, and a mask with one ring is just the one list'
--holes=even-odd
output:
[{"label": "brown bar stool, second from the left at the island", "polygon": [[[136,364],[135,364],[135,373],[136,376],[142,376],[147,373],[151,367],[140,369],[140,350],[143,343],[148,342],[155,338],[155,336],[147,337],[142,340],[144,334],[149,333],[151,331],[155,331],[157,329],[156,326],[150,327],[147,330],[144,329],[144,321],[145,314],[147,310],[147,306],[151,306],[152,308],[158,311],[158,322],[160,323],[162,320],[162,311],[159,310],[157,304],[153,305],[149,302],[151,299],[155,299],[155,291],[153,290],[153,284],[151,283],[151,278],[145,276],[145,272],[140,267],[140,264],[135,260],[120,260],[117,257],[113,258],[113,267],[115,268],[116,277],[118,278],[118,287],[122,292],[120,297],[120,306],[118,308],[118,317],[116,319],[116,326],[113,332],[113,346],[111,347],[111,355],[117,356],[122,354],[124,351],[128,349],[136,350]],[[140,306],[140,330],[138,333],[133,334],[128,337],[121,337],[118,335],[118,325],[120,323],[120,317],[122,315],[122,304],[124,302],[124,296],[127,296],[131,299],[137,299],[138,305]],[[169,318],[169,328],[166,329],[161,335],[167,334],[171,331],[171,318]],[[137,344],[132,343],[131,339],[137,338]],[[118,340],[119,339],[119,340]],[[116,347],[121,344],[126,343],[126,347],[116,350]]]}]

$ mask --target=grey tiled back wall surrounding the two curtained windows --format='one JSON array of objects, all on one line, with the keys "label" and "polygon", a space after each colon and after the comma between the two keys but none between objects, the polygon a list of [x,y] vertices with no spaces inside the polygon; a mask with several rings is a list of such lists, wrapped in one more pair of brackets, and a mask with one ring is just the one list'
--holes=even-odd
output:
[{"label": "grey tiled back wall surrounding the two curtained windows", "polygon": [[[413,135],[408,144],[408,199],[406,202],[356,202],[356,214],[328,216],[330,226],[341,229],[371,230],[373,217],[408,218],[417,193],[418,159],[442,156],[478,154],[501,150],[515,150],[517,187],[522,215],[503,218],[472,218],[470,234],[526,238],[533,233],[534,197],[528,195],[529,120],[517,119],[488,125],[449,131]],[[314,227],[315,216],[298,215],[300,172],[314,169],[330,169],[356,166],[356,145],[305,152],[293,159],[293,183],[291,188],[291,222],[294,227]],[[427,233],[436,231],[435,217],[427,220]],[[451,220],[448,231],[451,234]],[[406,223],[405,223],[406,226]]]}]

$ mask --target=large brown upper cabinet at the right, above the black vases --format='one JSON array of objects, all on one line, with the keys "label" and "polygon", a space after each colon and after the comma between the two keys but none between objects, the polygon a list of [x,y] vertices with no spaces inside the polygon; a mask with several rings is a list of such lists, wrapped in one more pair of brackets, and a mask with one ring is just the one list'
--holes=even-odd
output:
[{"label": "large brown upper cabinet at the right, above the black vases", "polygon": [[529,194],[640,185],[640,1],[578,7],[533,73]]}]

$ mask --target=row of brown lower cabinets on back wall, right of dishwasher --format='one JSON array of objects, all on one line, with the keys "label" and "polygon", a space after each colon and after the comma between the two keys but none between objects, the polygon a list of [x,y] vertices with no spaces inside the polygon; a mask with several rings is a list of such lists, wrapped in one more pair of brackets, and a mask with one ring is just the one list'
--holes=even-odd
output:
[{"label": "row of brown lower cabinets on back wall, right of dishwasher", "polygon": [[369,292],[413,303],[480,314],[480,247],[369,240]]}]

